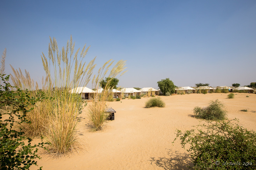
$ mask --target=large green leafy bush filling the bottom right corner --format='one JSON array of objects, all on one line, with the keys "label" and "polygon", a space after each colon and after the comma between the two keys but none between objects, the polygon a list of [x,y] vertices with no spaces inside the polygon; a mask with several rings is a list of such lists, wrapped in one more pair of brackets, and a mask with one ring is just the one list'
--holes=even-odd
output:
[{"label": "large green leafy bush filling the bottom right corner", "polygon": [[208,121],[194,126],[196,130],[176,131],[174,141],[179,137],[183,148],[189,144],[193,169],[256,169],[256,133],[231,121]]}]

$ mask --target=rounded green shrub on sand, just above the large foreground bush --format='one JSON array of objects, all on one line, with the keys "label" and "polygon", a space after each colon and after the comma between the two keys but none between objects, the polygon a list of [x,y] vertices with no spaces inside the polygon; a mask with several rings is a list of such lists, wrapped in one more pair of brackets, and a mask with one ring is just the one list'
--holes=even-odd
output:
[{"label": "rounded green shrub on sand, just above the large foreground bush", "polygon": [[209,106],[205,108],[196,106],[193,111],[196,118],[206,120],[223,120],[226,118],[226,110],[224,104],[218,99],[215,101],[210,101]]}]

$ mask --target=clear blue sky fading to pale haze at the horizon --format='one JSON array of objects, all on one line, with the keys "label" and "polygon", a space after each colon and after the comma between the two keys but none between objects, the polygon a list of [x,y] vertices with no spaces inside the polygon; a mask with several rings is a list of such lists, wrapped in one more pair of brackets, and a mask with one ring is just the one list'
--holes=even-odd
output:
[{"label": "clear blue sky fading to pale haze at the horizon", "polygon": [[98,67],[127,60],[122,87],[256,82],[255,0],[1,0],[0,23],[5,72],[11,64],[39,82],[49,36],[60,48],[70,35]]}]

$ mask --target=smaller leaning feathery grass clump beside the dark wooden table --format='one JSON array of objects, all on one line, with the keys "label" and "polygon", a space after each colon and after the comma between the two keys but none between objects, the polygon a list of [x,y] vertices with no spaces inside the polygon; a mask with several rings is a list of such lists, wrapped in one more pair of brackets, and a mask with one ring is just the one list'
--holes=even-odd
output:
[{"label": "smaller leaning feathery grass clump beside the dark wooden table", "polygon": [[95,89],[100,89],[100,82],[104,77],[109,77],[110,79],[107,80],[101,93],[98,92],[99,90],[96,90],[95,97],[88,107],[88,117],[92,124],[92,131],[104,129],[104,122],[109,117],[109,115],[105,113],[105,109],[109,106],[109,98],[112,97],[113,87],[110,87],[110,82],[113,78],[116,78],[118,75],[122,76],[126,72],[124,71],[124,69],[126,69],[124,67],[126,61],[120,60],[112,67],[109,75],[106,76],[113,63],[114,61],[112,60],[107,61],[98,70],[98,75],[93,77],[92,85]]}]

